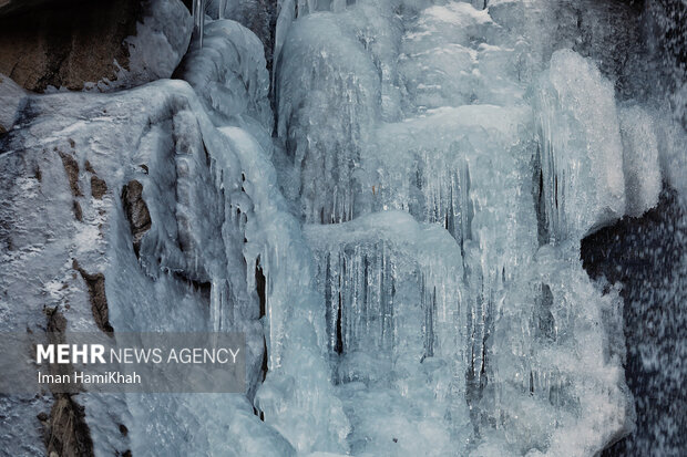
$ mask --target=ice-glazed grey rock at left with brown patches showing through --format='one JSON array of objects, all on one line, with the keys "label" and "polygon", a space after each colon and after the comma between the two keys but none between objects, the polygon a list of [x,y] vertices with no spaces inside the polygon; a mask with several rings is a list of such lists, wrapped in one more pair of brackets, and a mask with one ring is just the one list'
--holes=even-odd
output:
[{"label": "ice-glazed grey rock at left with brown patches showing through", "polygon": [[[258,297],[245,281],[250,198],[242,191],[239,159],[193,90],[167,81],[121,95],[34,96],[22,115],[29,121],[2,138],[0,155],[3,329],[42,331],[47,304],[75,331],[98,331],[105,323],[115,331],[243,331],[248,394],[255,392],[264,342]],[[18,217],[22,208],[31,208],[27,217]],[[103,294],[93,295],[89,281],[95,278],[102,279]],[[14,312],[17,302],[27,305]],[[106,322],[99,322],[96,304],[105,307]],[[209,411],[214,428],[198,429],[188,453],[233,449],[230,440],[217,437],[237,420],[260,424],[264,432],[253,435],[274,435],[273,449],[281,449],[274,455],[290,449],[247,402],[239,419],[230,395],[81,396],[96,451],[109,446],[182,451],[166,437]],[[42,399],[27,402],[31,417],[37,402]],[[166,416],[170,412],[177,415]],[[112,436],[110,414],[136,432]],[[160,415],[167,417],[164,429],[139,433],[144,429],[139,424],[162,424]],[[273,446],[269,439],[262,446]],[[17,446],[22,443],[3,444]]]}]

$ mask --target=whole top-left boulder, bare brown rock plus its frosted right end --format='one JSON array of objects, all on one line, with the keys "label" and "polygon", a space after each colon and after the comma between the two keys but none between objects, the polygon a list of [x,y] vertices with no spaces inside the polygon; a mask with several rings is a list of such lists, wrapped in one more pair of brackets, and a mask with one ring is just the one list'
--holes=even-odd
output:
[{"label": "whole top-left boulder, bare brown rock plus its frosted right end", "polygon": [[[168,77],[188,46],[178,0],[0,8],[0,72],[35,92],[111,91]],[[4,14],[3,14],[4,11]]]}]

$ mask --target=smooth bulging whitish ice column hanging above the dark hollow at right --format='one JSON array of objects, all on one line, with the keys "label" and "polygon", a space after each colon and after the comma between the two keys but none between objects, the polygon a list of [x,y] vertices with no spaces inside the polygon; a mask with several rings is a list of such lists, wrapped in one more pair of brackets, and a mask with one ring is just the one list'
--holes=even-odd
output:
[{"label": "smooth bulging whitish ice column hanging above the dark hollow at right", "polygon": [[613,86],[572,51],[557,51],[539,95],[548,233],[581,238],[625,212],[623,143]]}]

